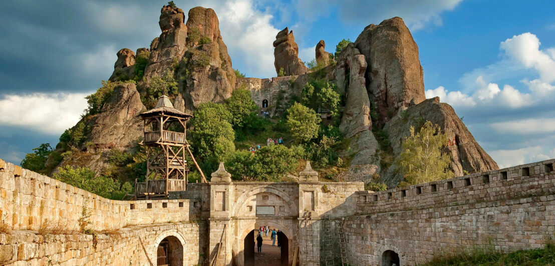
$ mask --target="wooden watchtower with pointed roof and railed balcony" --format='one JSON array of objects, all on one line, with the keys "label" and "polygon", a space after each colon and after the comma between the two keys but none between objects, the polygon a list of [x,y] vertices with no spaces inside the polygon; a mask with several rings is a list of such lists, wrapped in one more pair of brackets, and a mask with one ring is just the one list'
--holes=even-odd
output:
[{"label": "wooden watchtower with pointed roof and railed balcony", "polygon": [[193,116],[175,109],[166,95],[158,99],[154,109],[140,116],[144,125],[147,176],[145,182],[135,180],[135,197],[167,197],[170,191],[185,191],[189,176],[185,151],[205,182],[186,140],[186,123]]}]

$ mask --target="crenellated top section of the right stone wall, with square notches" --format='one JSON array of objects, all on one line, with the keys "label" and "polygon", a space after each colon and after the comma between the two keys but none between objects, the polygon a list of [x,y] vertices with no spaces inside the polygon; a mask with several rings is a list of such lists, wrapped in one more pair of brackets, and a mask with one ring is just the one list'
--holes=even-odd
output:
[{"label": "crenellated top section of the right stone wall, with square notches", "polygon": [[430,207],[485,204],[555,193],[555,159],[398,187],[357,192],[356,212],[381,213]]}]

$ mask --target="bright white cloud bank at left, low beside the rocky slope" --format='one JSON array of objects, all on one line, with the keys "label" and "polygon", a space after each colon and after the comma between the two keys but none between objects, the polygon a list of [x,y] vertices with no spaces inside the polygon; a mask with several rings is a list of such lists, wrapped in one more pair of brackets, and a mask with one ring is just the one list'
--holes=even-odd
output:
[{"label": "bright white cloud bank at left, low beside the rocky slope", "polygon": [[4,95],[0,123],[58,135],[75,125],[87,107],[86,93],[33,93]]}]

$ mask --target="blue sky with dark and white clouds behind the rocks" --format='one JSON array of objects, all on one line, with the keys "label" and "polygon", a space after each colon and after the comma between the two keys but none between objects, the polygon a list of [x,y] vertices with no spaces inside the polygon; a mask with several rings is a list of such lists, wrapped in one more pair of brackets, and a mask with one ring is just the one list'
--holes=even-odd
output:
[{"label": "blue sky with dark and white clouds behind the rocks", "polygon": [[[84,96],[112,74],[119,49],[148,47],[167,1],[0,1],[0,158],[55,146]],[[275,76],[272,42],[293,30],[299,56],[354,41],[401,17],[420,50],[426,97],[451,104],[475,139],[509,167],[555,158],[554,1],[174,0],[213,8],[233,67]]]}]

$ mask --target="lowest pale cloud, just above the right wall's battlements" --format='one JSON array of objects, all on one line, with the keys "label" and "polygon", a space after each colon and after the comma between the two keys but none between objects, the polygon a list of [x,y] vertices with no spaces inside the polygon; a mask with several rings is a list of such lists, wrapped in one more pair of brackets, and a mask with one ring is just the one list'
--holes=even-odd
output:
[{"label": "lowest pale cloud, just above the right wall's battlements", "polygon": [[546,151],[541,146],[528,146],[514,150],[490,151],[490,155],[497,162],[499,168],[506,168],[524,163],[548,160]]}]

